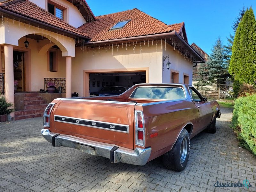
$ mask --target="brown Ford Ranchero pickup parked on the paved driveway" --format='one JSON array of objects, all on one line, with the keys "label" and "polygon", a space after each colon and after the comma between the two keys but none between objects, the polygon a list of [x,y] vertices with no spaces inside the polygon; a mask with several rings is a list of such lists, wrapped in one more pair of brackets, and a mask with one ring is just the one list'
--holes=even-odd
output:
[{"label": "brown Ford Ranchero pickup parked on the paved driveway", "polygon": [[43,137],[54,147],[79,149],[112,163],[145,165],[163,156],[182,171],[190,139],[216,132],[220,106],[188,84],[136,84],[116,96],[53,100],[44,111]]}]

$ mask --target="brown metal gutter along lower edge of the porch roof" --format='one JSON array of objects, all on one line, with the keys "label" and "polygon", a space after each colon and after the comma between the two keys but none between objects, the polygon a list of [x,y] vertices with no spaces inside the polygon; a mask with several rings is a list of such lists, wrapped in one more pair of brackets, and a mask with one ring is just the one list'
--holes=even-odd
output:
[{"label": "brown metal gutter along lower edge of the porch roof", "polygon": [[45,24],[45,23],[43,23],[43,22],[40,22],[40,21],[37,21],[37,20],[33,20],[33,19],[28,18],[28,17],[19,15],[19,14],[17,14],[17,13],[10,12],[10,11],[8,11],[8,10],[3,9],[2,7],[0,7],[0,12],[6,13],[6,14],[9,14],[9,15],[12,15],[12,16],[14,16],[14,17],[18,17],[18,18],[21,18],[21,19],[24,19],[24,20],[27,20],[27,21],[30,21],[30,22],[33,22],[33,23],[36,23],[36,24],[39,24],[39,25],[43,25],[43,26],[48,27],[48,28],[53,28],[53,29],[55,29],[55,30],[62,31],[62,32],[67,33],[67,34],[72,35],[72,36],[76,36],[76,37],[80,37],[80,38],[88,39],[88,40],[90,39],[89,37],[85,37],[85,36],[82,36],[82,35],[73,33],[73,32],[71,32],[71,31],[67,31],[67,30],[65,30],[65,29],[57,28],[57,27],[54,27],[54,26],[52,26],[52,25]]}]

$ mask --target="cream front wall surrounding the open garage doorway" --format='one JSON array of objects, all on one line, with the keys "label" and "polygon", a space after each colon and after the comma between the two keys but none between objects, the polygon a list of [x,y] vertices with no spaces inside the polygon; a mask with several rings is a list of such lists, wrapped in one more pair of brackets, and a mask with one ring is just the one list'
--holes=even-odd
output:
[{"label": "cream front wall surrounding the open garage doorway", "polygon": [[[134,42],[136,44],[136,42]],[[102,46],[97,48],[93,47],[92,50],[90,47],[84,47],[84,52],[80,47],[76,48],[76,57],[72,58],[72,92],[79,92],[79,95],[84,92],[84,83],[89,84],[89,82],[82,82],[84,72],[83,70],[116,70],[120,71],[124,69],[135,69],[135,68],[149,68],[148,77],[149,83],[159,83],[162,82],[162,48],[160,47],[159,41],[156,49],[156,41],[141,43],[140,51],[140,42],[137,42],[135,47],[135,53],[133,51],[133,43],[131,45],[119,44],[118,54],[117,46],[113,44],[113,55],[112,55],[112,45],[107,46],[102,49]],[[83,49],[83,47],[82,47]],[[88,85],[89,89],[89,85]]]}]

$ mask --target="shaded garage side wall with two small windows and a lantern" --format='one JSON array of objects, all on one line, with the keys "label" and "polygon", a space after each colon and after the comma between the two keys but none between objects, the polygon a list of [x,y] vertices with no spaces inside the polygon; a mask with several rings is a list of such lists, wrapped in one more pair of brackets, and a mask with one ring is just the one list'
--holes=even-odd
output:
[{"label": "shaded garage side wall with two small windows and a lantern", "polygon": [[[164,52],[165,51],[165,52]],[[168,62],[168,58],[164,62],[164,70],[163,70],[163,83],[170,83],[171,82],[171,71],[179,72],[179,83],[184,82],[184,75],[186,74],[189,76],[189,84],[192,84],[192,66],[193,63],[188,58],[184,57],[177,49],[166,44],[166,50],[163,49],[163,55],[169,55],[169,62],[171,63],[171,67],[169,70],[166,68],[166,64]]]}]

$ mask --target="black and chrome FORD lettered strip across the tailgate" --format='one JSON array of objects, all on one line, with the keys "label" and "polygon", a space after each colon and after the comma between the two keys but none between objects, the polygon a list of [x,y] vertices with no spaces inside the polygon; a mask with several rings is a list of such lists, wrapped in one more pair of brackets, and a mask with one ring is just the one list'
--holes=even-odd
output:
[{"label": "black and chrome FORD lettered strip across the tailgate", "polygon": [[[60,120],[60,118],[61,118],[61,120]],[[76,120],[76,123],[70,122],[70,120],[71,121]],[[67,124],[81,125],[81,126],[85,126],[85,127],[93,127],[93,128],[97,128],[97,129],[104,129],[104,130],[108,130],[108,131],[129,133],[129,125],[126,125],[126,124],[109,123],[109,122],[104,122],[104,121],[82,119],[82,118],[60,116],[60,115],[54,115],[54,121],[61,122],[61,123],[67,123]],[[106,125],[106,127],[104,127],[105,125]],[[122,130],[122,129],[124,129],[124,130]]]}]

